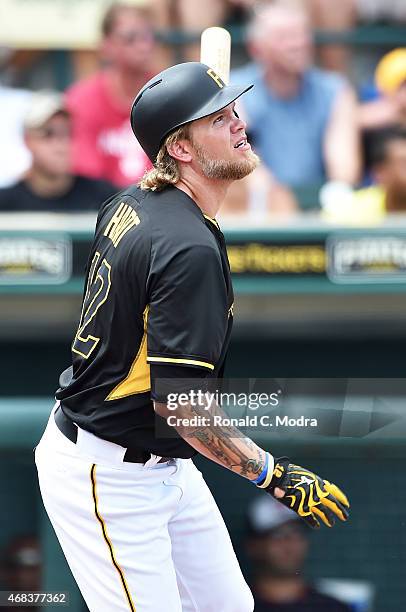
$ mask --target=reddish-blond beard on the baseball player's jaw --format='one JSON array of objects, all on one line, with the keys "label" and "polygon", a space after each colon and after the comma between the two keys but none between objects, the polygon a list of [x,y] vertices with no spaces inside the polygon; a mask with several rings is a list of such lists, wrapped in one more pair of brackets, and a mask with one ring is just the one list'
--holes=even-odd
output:
[{"label": "reddish-blond beard on the baseball player's jaw", "polygon": [[193,143],[197,160],[206,178],[221,181],[238,181],[248,176],[258,167],[260,159],[253,151],[248,151],[245,159],[231,161],[226,159],[210,159],[204,149]]}]

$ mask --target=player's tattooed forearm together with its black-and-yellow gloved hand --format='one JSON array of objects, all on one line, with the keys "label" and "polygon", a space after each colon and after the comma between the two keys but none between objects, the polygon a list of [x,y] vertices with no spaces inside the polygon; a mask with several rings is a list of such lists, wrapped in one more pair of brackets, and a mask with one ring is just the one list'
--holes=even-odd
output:
[{"label": "player's tattooed forearm together with its black-and-yellow gloved hand", "polygon": [[[334,525],[335,517],[347,520],[349,503],[336,485],[290,463],[287,457],[275,463],[270,453],[239,429],[219,425],[227,415],[218,405],[209,407],[204,401],[198,405],[190,402],[178,405],[176,418],[170,419],[170,424],[199,453],[252,481],[296,512],[310,527],[320,527],[319,519],[328,527]],[[154,407],[163,418],[173,415],[166,404],[155,402]],[[199,418],[192,421],[193,417]],[[199,425],[191,425],[193,422]]]}]

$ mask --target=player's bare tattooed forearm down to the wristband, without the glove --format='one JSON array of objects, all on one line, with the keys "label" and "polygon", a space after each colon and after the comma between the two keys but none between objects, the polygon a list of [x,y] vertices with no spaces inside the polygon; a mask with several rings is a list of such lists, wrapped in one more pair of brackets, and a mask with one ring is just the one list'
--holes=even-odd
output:
[{"label": "player's bare tattooed forearm down to the wristband, without the glove", "polygon": [[[262,473],[267,453],[236,427],[218,425],[227,415],[217,404],[209,409],[207,405],[179,406],[174,415],[166,404],[155,403],[155,411],[164,418],[175,416],[170,422],[178,434],[211,461],[249,480],[255,480]],[[196,416],[202,425],[189,424]],[[272,460],[268,454],[269,458]]]}]

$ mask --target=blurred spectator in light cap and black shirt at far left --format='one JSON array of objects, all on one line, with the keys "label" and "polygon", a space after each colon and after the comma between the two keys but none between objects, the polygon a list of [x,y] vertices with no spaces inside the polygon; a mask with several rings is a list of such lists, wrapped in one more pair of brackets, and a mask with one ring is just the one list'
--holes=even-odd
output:
[{"label": "blurred spectator in light cap and black shirt at far left", "polygon": [[97,210],[117,188],[71,173],[71,119],[53,92],[32,94],[24,121],[31,167],[16,184],[0,189],[0,211]]}]

